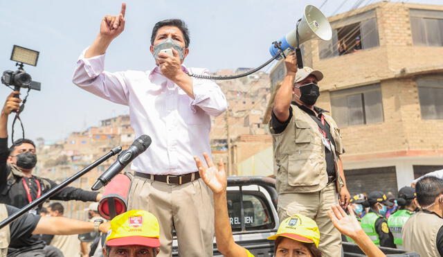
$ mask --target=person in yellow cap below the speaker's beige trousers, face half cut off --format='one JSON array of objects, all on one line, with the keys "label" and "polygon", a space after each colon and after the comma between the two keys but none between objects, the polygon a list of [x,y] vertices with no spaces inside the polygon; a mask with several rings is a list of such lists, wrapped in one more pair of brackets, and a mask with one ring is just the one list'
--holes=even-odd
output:
[{"label": "person in yellow cap below the speaker's beige trousers, face half cut off", "polygon": [[160,251],[159,238],[159,222],[152,213],[127,211],[111,220],[103,256],[155,257]]}]

